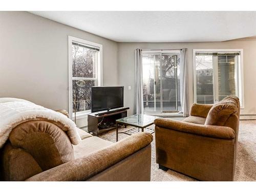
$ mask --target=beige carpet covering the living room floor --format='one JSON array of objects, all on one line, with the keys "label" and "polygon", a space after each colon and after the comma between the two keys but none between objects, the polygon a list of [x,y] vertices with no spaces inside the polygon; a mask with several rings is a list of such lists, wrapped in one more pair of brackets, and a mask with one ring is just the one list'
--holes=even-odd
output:
[{"label": "beige carpet covering the living room floor", "polygon": [[[152,125],[153,126],[153,125]],[[122,130],[131,129],[131,127],[122,128]],[[153,134],[155,137],[155,134]],[[102,139],[112,142],[116,141],[116,132],[111,131],[100,136]],[[119,134],[119,140],[127,137],[125,134]],[[155,139],[152,142],[152,167],[151,181],[196,181],[193,178],[174,172],[168,169],[167,172],[158,168],[156,164]],[[235,181],[256,181],[256,120],[240,121],[240,130],[238,137],[237,163],[234,174]]]}]

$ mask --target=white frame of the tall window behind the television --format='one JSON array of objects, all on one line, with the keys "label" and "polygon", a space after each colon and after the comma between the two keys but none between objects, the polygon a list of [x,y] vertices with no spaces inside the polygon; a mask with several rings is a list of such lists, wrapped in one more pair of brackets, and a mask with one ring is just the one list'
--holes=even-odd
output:
[{"label": "white frame of the tall window behind the television", "polygon": [[[73,77],[72,73],[72,65],[73,65],[73,57],[72,57],[72,42],[78,42],[80,44],[86,44],[86,45],[91,45],[93,47],[98,47],[99,48],[99,54],[98,54],[98,63],[95,66],[96,67],[96,72],[95,72],[95,77],[96,77],[96,85],[95,86],[102,86],[103,85],[103,72],[102,72],[102,58],[103,58],[103,53],[102,53],[102,45],[97,44],[96,42],[84,40],[81,38],[73,37],[73,36],[68,36],[68,47],[69,47],[69,115],[71,119],[74,119],[74,113],[73,113],[73,83],[72,80],[79,80],[78,77]],[[87,78],[88,80],[95,80],[95,78]],[[76,113],[76,119],[80,118],[86,118],[88,114],[91,113],[91,110],[87,111],[82,111],[82,112],[77,112]]]}]

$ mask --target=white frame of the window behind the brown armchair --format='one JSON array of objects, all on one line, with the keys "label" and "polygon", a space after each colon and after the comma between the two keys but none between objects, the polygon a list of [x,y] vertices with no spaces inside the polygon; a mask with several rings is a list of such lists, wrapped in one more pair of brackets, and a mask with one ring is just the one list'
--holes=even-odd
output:
[{"label": "white frame of the window behind the brown armchair", "polygon": [[[244,109],[244,67],[243,67],[243,49],[193,49],[193,70],[194,70],[194,102],[197,102],[197,73],[196,73],[196,53],[197,52],[240,52],[240,61],[238,63],[238,92],[240,99],[240,108]],[[214,66],[213,66],[214,67]],[[214,74],[215,76],[215,74]],[[215,90],[215,88],[214,88]]]}]

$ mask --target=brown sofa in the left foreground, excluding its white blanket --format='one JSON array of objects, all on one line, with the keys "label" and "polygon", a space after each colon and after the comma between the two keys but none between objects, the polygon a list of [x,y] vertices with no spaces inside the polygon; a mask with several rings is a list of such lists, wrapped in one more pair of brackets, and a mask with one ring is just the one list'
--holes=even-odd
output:
[{"label": "brown sofa in the left foreground, excluding its white blanket", "polygon": [[1,180],[150,181],[151,134],[112,143],[77,128],[82,141],[72,145],[59,126],[42,119],[17,125],[0,149]]}]

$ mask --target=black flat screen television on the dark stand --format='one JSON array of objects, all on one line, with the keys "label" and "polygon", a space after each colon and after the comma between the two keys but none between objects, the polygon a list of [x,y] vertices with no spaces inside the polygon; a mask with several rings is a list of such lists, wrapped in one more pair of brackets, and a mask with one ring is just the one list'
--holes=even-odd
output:
[{"label": "black flat screen television on the dark stand", "polygon": [[92,87],[91,112],[123,107],[123,87]]}]

